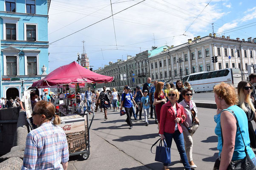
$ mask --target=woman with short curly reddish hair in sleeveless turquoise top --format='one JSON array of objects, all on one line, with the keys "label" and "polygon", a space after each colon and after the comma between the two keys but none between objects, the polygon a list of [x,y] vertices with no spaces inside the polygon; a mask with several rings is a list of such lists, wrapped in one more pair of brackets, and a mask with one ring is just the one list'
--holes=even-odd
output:
[{"label": "woman with short curly reddish hair in sleeveless turquoise top", "polygon": [[[213,91],[217,105],[217,114],[214,116],[214,121],[217,123],[215,133],[218,136],[217,149],[219,150],[219,156],[221,156],[219,170],[227,170],[231,160],[236,161],[244,159],[246,156],[244,143],[250,159],[256,164],[255,155],[250,148],[247,116],[244,111],[236,105],[238,103],[236,89],[230,84],[221,82],[213,88]],[[236,127],[236,118],[228,109],[232,110],[237,117],[244,143]],[[223,141],[221,139],[221,133]]]}]

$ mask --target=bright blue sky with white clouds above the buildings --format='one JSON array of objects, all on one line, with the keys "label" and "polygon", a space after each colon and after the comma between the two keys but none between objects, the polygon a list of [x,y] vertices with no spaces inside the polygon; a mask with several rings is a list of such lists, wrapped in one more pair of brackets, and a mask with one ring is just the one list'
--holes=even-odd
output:
[{"label": "bright blue sky with white clouds above the buildings", "polygon": [[152,46],[180,45],[213,31],[230,39],[256,37],[256,0],[141,1],[52,0],[49,70],[76,61],[77,53],[83,52],[82,41],[97,70]]}]

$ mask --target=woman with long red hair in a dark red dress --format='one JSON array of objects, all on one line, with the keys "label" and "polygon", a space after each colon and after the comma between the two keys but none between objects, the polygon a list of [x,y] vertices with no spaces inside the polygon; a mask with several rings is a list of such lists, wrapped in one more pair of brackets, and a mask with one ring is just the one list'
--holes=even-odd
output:
[{"label": "woman with long red hair in a dark red dress", "polygon": [[155,105],[155,112],[157,115],[158,122],[160,121],[161,107],[162,105],[164,105],[164,103],[166,103],[166,98],[164,96],[163,88],[164,88],[164,82],[158,82],[156,84],[153,105]]}]

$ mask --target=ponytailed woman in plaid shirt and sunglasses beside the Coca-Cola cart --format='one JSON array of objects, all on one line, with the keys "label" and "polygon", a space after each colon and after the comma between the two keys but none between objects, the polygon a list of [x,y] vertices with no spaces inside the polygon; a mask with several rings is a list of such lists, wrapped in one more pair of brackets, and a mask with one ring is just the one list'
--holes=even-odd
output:
[{"label": "ponytailed woman in plaid shirt and sunglasses beside the Coca-Cola cart", "polygon": [[43,100],[37,102],[32,117],[39,127],[27,135],[21,170],[67,170],[68,143],[63,129],[57,126],[60,117],[55,115],[54,105]]}]

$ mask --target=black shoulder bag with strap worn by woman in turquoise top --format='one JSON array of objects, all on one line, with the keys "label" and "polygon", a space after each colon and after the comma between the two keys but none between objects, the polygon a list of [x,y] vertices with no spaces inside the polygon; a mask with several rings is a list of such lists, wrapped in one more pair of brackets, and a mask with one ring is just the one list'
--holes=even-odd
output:
[{"label": "black shoulder bag with strap worn by woman in turquoise top", "polygon": [[[233,116],[236,118],[236,126],[238,127],[239,132],[242,136],[242,133],[241,133],[241,130],[240,130],[240,127],[239,127],[239,124],[238,124],[238,120],[237,120],[237,117],[236,117],[234,111],[232,111],[230,109],[227,109],[227,110],[229,110],[233,114]],[[221,140],[222,140],[222,146],[223,146],[222,129],[221,129]],[[242,136],[242,140],[244,142],[243,136]],[[256,167],[253,164],[253,161],[250,159],[250,156],[247,153],[245,143],[244,143],[244,152],[246,154],[244,159],[240,159],[240,160],[237,160],[237,161],[231,161],[230,164],[227,167],[227,170],[256,170]],[[218,157],[215,161],[213,170],[219,170],[220,163],[221,163],[221,159],[220,159],[220,157]]]}]

